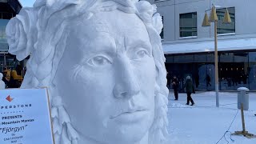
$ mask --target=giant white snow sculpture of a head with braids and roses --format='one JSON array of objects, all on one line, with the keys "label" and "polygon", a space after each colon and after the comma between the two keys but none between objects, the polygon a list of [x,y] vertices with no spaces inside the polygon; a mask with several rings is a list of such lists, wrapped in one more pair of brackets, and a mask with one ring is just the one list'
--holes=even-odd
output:
[{"label": "giant white snow sculpture of a head with braids and roses", "polygon": [[156,6],[138,0],[37,0],[6,26],[30,55],[23,88],[47,86],[56,144],[161,144],[166,69]]}]

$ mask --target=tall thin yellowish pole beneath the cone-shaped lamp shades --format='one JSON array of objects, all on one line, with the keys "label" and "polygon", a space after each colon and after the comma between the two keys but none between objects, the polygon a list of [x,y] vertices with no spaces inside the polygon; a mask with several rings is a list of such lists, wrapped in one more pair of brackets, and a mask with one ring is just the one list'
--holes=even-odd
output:
[{"label": "tall thin yellowish pole beneath the cone-shaped lamp shades", "polygon": [[216,93],[216,106],[218,102],[218,48],[217,48],[217,21],[214,22],[214,64],[215,64],[215,93]]}]

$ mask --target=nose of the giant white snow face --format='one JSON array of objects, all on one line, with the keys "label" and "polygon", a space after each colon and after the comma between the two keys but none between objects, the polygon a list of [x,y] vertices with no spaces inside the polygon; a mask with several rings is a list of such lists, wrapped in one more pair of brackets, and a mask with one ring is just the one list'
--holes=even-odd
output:
[{"label": "nose of the giant white snow face", "polygon": [[118,75],[114,86],[115,98],[132,98],[139,93],[138,79],[134,74],[133,66],[130,62],[122,62],[118,66]]}]

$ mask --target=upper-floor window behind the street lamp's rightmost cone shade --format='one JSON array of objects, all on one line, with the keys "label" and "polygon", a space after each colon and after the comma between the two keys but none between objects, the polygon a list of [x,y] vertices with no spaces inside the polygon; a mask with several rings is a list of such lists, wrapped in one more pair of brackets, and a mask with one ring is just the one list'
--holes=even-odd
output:
[{"label": "upper-floor window behind the street lamp's rightmost cone shade", "polygon": [[229,7],[227,9],[230,13],[230,18],[231,18],[230,24],[223,23],[223,18],[224,18],[226,8],[216,10],[216,13],[218,16],[218,26],[217,26],[218,34],[235,33],[235,10],[234,10],[234,7]]}]

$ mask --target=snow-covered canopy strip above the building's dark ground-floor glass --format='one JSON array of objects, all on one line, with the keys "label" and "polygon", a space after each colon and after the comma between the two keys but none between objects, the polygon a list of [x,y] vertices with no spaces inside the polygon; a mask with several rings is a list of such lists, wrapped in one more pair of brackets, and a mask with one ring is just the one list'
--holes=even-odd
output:
[{"label": "snow-covered canopy strip above the building's dark ground-floor glass", "polygon": [[[164,43],[165,54],[201,53],[214,51],[214,40]],[[256,38],[218,39],[218,51],[256,50]]]}]

